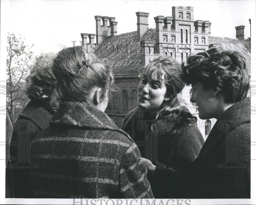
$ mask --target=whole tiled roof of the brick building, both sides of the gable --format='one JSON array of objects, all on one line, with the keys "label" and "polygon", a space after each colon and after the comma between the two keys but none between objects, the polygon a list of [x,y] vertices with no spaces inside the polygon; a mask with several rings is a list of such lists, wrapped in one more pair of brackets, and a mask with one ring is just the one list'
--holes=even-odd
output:
[{"label": "whole tiled roof of the brick building, both sides of the gable", "polygon": [[[156,29],[147,29],[141,37],[142,40],[155,42]],[[231,39],[227,37],[209,36],[209,45],[217,44],[227,49],[235,49],[244,54],[248,59],[251,70],[251,41],[249,39]],[[127,49],[126,49],[126,45]],[[114,74],[138,74],[144,66],[143,53],[140,52],[140,42],[137,31],[107,36],[101,42],[102,48],[97,47],[96,55],[110,61]],[[132,47],[131,47],[132,46]],[[113,50],[114,47],[114,50]],[[117,50],[117,47],[119,49]]]}]

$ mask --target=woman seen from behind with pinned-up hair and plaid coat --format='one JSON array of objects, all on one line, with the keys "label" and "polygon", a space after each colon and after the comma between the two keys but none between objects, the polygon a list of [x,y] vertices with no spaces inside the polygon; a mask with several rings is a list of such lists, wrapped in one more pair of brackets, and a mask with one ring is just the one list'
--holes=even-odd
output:
[{"label": "woman seen from behind with pinned-up hair and plaid coat", "polygon": [[52,70],[61,102],[31,142],[38,164],[31,169],[34,197],[152,198],[140,151],[104,113],[113,80],[108,61],[70,47],[58,53]]}]

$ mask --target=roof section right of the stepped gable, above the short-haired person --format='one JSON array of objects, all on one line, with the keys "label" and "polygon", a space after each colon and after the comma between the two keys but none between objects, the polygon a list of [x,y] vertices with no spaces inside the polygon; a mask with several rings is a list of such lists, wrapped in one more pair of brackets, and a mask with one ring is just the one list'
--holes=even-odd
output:
[{"label": "roof section right of the stepped gable, above the short-haired person", "polygon": [[221,44],[221,46],[226,49],[239,51],[247,58],[248,69],[251,72],[251,41],[249,39],[231,39],[209,36],[209,44]]}]

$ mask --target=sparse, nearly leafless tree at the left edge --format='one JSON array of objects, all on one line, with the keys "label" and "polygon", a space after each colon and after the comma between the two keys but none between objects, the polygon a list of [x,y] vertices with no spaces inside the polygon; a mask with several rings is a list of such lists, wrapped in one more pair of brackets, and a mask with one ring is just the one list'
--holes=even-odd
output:
[{"label": "sparse, nearly leafless tree at the left edge", "polygon": [[25,37],[18,34],[8,33],[7,36],[7,59],[6,59],[6,110],[11,121],[16,113],[22,110],[28,102],[21,87],[25,83],[29,68],[32,65],[34,53],[31,48],[34,46],[25,45]]}]

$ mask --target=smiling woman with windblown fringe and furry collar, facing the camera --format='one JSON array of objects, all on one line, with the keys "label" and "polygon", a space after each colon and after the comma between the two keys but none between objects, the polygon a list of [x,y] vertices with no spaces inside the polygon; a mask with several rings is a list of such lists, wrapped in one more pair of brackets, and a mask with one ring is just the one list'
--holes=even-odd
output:
[{"label": "smiling woman with windblown fringe and furry collar, facing the camera", "polygon": [[[124,131],[138,145],[142,157],[159,168],[191,168],[204,143],[197,118],[182,105],[180,92],[184,87],[181,65],[176,60],[169,56],[154,59],[142,72],[139,107],[124,119]],[[169,195],[165,187],[154,183],[151,187],[155,198]],[[184,194],[173,193],[173,198]]]}]

